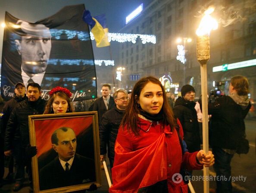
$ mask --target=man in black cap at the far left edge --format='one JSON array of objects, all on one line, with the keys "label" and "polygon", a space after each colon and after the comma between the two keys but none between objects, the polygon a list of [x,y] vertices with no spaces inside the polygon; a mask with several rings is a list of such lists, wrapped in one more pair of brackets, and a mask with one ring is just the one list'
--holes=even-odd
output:
[{"label": "man in black cap at the far left edge", "polygon": [[[15,84],[14,93],[12,99],[7,101],[5,105],[3,106],[3,112],[1,113],[0,120],[1,120],[1,141],[0,141],[0,153],[1,153],[1,159],[0,159],[0,180],[3,179],[4,174],[4,149],[3,149],[3,138],[6,130],[6,125],[9,120],[10,114],[12,112],[12,109],[22,100],[26,99],[26,88],[25,85],[22,82],[18,82]],[[6,176],[6,180],[12,180],[13,178],[13,157],[11,156],[9,158],[9,173]]]}]

